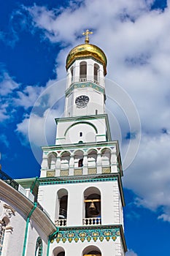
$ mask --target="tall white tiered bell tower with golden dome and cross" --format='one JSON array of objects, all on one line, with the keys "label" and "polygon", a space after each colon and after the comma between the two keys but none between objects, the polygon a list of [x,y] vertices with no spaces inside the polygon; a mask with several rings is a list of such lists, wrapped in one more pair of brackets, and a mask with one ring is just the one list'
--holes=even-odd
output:
[{"label": "tall white tiered bell tower with golden dome and cross", "polygon": [[43,146],[39,203],[59,227],[53,256],[124,256],[123,170],[105,113],[107,57],[85,43],[66,59],[65,116],[55,118],[55,146]]}]

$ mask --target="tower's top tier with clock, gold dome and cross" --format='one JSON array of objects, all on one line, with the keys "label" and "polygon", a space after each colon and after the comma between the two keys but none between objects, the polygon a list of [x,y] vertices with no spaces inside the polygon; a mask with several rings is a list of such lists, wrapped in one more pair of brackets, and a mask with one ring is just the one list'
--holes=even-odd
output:
[{"label": "tower's top tier with clock, gold dome and cross", "polygon": [[82,34],[85,43],[73,48],[66,58],[66,117],[104,114],[107,57],[98,46],[89,44],[91,31]]}]

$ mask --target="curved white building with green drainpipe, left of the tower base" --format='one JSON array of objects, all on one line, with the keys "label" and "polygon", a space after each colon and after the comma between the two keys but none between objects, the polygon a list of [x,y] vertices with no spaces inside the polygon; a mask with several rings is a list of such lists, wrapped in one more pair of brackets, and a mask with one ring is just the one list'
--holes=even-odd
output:
[{"label": "curved white building with green drainpipe, left of the tower base", "polygon": [[53,222],[39,207],[34,208],[34,203],[6,182],[0,180],[0,188],[0,255],[38,255],[38,238],[42,241],[42,255],[47,255],[48,238],[56,230]]}]

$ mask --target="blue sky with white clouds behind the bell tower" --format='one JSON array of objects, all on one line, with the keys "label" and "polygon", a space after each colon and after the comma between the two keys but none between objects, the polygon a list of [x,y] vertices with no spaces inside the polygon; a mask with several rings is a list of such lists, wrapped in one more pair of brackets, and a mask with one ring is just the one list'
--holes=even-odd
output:
[{"label": "blue sky with white clouds behind the bell tower", "polygon": [[136,119],[129,124],[134,112],[108,97],[107,110],[120,128],[110,120],[123,157],[128,256],[169,253],[169,15],[170,2],[161,0],[1,1],[0,151],[7,174],[39,176],[39,148],[54,143],[54,118],[63,113],[66,56],[83,42],[85,29],[107,55],[107,78],[136,106],[141,142],[127,165],[129,140],[134,147],[139,141],[129,130]]}]

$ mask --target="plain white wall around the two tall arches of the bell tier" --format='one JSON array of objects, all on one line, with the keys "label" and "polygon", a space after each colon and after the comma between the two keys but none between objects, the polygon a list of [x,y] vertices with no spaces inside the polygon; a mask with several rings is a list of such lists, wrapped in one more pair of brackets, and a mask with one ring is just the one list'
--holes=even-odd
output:
[{"label": "plain white wall around the two tall arches of the bell tier", "polygon": [[[101,224],[116,225],[121,223],[120,196],[117,181],[104,181],[77,184],[53,184],[39,187],[39,203],[55,220],[55,207],[59,189],[68,191],[67,226],[81,226],[84,211],[84,192],[88,187],[96,187],[101,191]],[[49,200],[50,198],[50,200]]]}]

